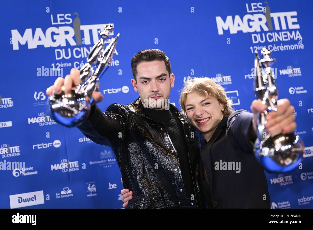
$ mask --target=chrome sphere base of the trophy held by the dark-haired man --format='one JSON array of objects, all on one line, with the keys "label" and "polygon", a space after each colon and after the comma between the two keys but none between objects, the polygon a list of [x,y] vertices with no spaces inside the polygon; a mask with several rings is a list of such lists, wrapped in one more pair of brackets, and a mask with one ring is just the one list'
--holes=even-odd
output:
[{"label": "chrome sphere base of the trophy held by the dark-haired man", "polygon": [[[56,122],[67,127],[75,127],[82,124],[89,116],[89,97],[83,93],[61,94],[49,96],[47,100],[47,114]],[[92,102],[92,101],[91,101]]]}]

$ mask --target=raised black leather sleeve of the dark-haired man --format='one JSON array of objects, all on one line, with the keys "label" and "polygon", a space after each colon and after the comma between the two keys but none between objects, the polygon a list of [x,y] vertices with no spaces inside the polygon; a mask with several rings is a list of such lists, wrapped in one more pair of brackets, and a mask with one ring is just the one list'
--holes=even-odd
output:
[{"label": "raised black leather sleeve of the dark-haired man", "polygon": [[93,105],[90,112],[89,118],[77,128],[93,142],[117,148],[123,136],[125,114],[115,104],[110,105],[105,113]]}]

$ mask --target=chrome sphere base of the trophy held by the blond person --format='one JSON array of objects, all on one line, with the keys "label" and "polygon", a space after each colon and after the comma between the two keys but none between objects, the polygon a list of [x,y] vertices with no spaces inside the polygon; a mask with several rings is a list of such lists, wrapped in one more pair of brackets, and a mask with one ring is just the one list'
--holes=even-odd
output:
[{"label": "chrome sphere base of the trophy held by the blond person", "polygon": [[[294,141],[292,141],[294,140]],[[289,172],[299,167],[304,158],[304,144],[294,133],[278,134],[254,143],[259,163],[269,172]]]}]

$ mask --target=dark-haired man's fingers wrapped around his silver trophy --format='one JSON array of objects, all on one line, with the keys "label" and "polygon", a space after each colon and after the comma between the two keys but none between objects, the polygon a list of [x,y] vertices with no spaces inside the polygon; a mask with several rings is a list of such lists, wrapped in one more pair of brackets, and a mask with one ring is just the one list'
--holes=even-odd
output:
[{"label": "dark-haired man's fingers wrapped around his silver trophy", "polygon": [[[69,94],[71,92],[71,89],[76,89],[77,86],[81,83],[80,80],[80,71],[78,69],[71,69],[71,73],[67,74],[65,78],[57,78],[54,82],[54,85],[51,85],[47,90],[47,95],[53,95],[54,91],[56,94],[60,94],[62,90],[66,94]],[[99,102],[103,99],[103,95],[100,92],[93,92],[92,97],[94,98],[95,102]]]}]

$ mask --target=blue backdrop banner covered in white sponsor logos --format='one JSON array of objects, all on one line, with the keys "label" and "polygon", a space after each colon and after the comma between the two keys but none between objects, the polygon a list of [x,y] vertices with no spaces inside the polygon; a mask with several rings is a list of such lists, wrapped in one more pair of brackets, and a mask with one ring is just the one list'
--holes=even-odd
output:
[{"label": "blue backdrop banner covered in white sponsor logos", "polygon": [[[170,102],[191,77],[225,87],[235,109],[254,100],[254,52],[273,50],[279,98],[295,106],[305,160],[266,173],[272,208],[313,208],[312,1],[6,1],[1,4],[0,208],[121,208],[121,173],[111,149],[46,115],[45,91],[80,68],[98,31],[121,33],[101,78],[104,100],[128,104],[131,58],[162,49],[172,64]],[[24,162],[24,163],[23,163]],[[23,166],[16,167],[18,163]],[[12,167],[11,167],[12,166]],[[11,170],[10,170],[11,169]]]}]

